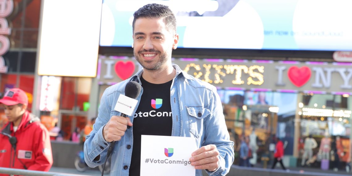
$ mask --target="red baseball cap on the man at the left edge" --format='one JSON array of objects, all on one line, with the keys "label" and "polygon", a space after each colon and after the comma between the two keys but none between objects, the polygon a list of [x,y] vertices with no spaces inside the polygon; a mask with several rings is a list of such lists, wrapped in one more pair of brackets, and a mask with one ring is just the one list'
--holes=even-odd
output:
[{"label": "red baseball cap on the man at the left edge", "polygon": [[5,93],[4,97],[0,99],[0,103],[4,103],[7,106],[17,104],[28,105],[28,97],[22,89],[13,88]]}]

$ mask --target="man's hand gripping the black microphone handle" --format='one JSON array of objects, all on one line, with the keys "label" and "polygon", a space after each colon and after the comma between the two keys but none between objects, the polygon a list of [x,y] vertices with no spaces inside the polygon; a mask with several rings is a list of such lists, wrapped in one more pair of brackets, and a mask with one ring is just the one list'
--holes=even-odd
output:
[{"label": "man's hand gripping the black microphone handle", "polygon": [[103,128],[103,137],[107,142],[119,141],[125,135],[127,125],[132,126],[128,117],[113,115]]}]

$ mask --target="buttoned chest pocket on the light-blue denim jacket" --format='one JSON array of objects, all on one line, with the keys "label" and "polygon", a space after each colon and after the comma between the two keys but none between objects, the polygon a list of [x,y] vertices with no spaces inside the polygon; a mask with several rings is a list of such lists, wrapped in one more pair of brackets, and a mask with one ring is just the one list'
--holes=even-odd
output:
[{"label": "buttoned chest pocket on the light-blue denim jacket", "polygon": [[204,119],[210,115],[210,111],[203,106],[186,106],[188,113],[189,132],[196,138],[203,133]]}]

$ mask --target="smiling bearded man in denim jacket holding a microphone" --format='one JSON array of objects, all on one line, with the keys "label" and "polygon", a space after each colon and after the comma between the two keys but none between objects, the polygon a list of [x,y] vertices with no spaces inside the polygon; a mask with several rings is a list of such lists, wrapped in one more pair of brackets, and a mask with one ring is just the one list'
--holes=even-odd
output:
[{"label": "smiling bearded man in denim jacket holding a microphone", "polygon": [[[226,175],[234,159],[233,142],[216,88],[171,64],[171,52],[178,43],[175,15],[167,6],[148,4],[134,13],[132,27],[133,54],[143,69],[105,90],[93,131],[84,143],[87,164],[102,164],[109,143],[116,141],[111,175],[139,176],[142,134],[182,136],[196,138],[199,149],[189,161],[197,176],[202,169],[209,175]],[[129,81],[142,85],[137,98],[140,106],[134,115],[124,118],[113,107]],[[153,100],[161,101],[162,106],[150,106]],[[144,116],[151,111],[166,113]]]}]

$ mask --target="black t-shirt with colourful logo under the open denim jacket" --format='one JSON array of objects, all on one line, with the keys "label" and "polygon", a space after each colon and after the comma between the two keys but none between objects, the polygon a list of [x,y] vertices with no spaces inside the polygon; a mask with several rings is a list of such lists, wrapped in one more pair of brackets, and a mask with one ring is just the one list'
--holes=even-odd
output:
[{"label": "black t-shirt with colourful logo under the open denim jacket", "polygon": [[140,175],[141,135],[171,136],[172,114],[170,88],[172,80],[153,84],[140,77],[143,94],[133,119],[133,149],[130,176]]}]

